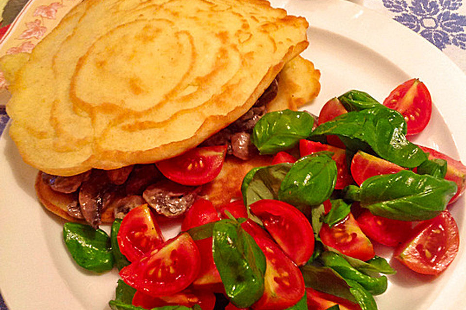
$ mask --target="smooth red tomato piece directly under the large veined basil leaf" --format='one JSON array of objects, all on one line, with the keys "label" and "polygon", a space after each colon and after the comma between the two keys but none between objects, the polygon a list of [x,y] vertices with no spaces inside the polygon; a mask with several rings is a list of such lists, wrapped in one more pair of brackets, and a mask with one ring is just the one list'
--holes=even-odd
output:
[{"label": "smooth red tomato piece directly under the large veined basil leaf", "polygon": [[369,210],[363,211],[356,221],[369,239],[387,247],[398,246],[411,233],[411,222],[375,216]]}]

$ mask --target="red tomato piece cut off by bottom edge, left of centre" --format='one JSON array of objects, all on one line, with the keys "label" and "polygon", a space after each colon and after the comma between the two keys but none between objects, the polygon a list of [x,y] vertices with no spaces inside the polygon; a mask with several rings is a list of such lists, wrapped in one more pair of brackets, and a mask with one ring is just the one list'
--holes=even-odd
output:
[{"label": "red tomato piece cut off by bottom edge, left of centre", "polygon": [[133,306],[144,309],[175,305],[192,308],[194,305],[199,305],[202,310],[213,310],[215,307],[215,295],[212,292],[186,289],[173,295],[152,297],[143,292],[136,291],[132,303]]}]

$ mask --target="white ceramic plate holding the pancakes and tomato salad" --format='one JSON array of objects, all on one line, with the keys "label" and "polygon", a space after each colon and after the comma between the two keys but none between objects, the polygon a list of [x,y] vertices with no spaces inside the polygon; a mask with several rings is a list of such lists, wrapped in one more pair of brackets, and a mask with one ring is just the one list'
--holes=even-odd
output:
[{"label": "white ceramic plate holding the pancakes and tomato salad", "polygon": [[[350,89],[382,101],[399,83],[417,77],[431,91],[436,109],[416,142],[466,162],[466,76],[444,54],[404,26],[350,2],[272,2],[307,17],[311,25],[311,44],[303,55],[321,70],[322,91],[306,109],[318,112],[328,99]],[[45,212],[35,198],[36,171],[22,162],[8,135],[1,138],[0,151],[0,285],[10,310],[108,309],[116,271],[94,275],[72,262],[62,241],[62,220]],[[450,211],[466,240],[465,199]],[[376,297],[380,310],[464,309],[463,245],[437,278],[391,263],[399,273],[389,276],[387,292]]]}]

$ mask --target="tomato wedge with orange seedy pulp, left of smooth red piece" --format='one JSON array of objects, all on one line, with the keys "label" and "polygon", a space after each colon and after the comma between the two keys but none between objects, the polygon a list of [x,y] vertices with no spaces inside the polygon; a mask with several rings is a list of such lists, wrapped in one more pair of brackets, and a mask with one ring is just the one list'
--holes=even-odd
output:
[{"label": "tomato wedge with orange seedy pulp, left of smooth red piece", "polygon": [[332,227],[324,223],[319,236],[324,245],[362,261],[370,260],[375,255],[372,243],[351,213]]}]

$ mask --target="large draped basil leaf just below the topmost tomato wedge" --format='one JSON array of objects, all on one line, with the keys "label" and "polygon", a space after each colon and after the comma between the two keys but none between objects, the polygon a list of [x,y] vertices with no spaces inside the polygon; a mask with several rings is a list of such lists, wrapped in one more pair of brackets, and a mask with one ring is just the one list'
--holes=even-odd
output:
[{"label": "large draped basil leaf just below the topmost tomato wedge", "polygon": [[[317,126],[311,137],[338,135],[340,138],[360,140],[383,159],[414,168],[425,161],[427,155],[406,139],[403,134],[405,127],[406,122],[399,112],[385,107],[372,108],[348,112],[323,123]],[[345,142],[348,139],[342,140]]]}]

